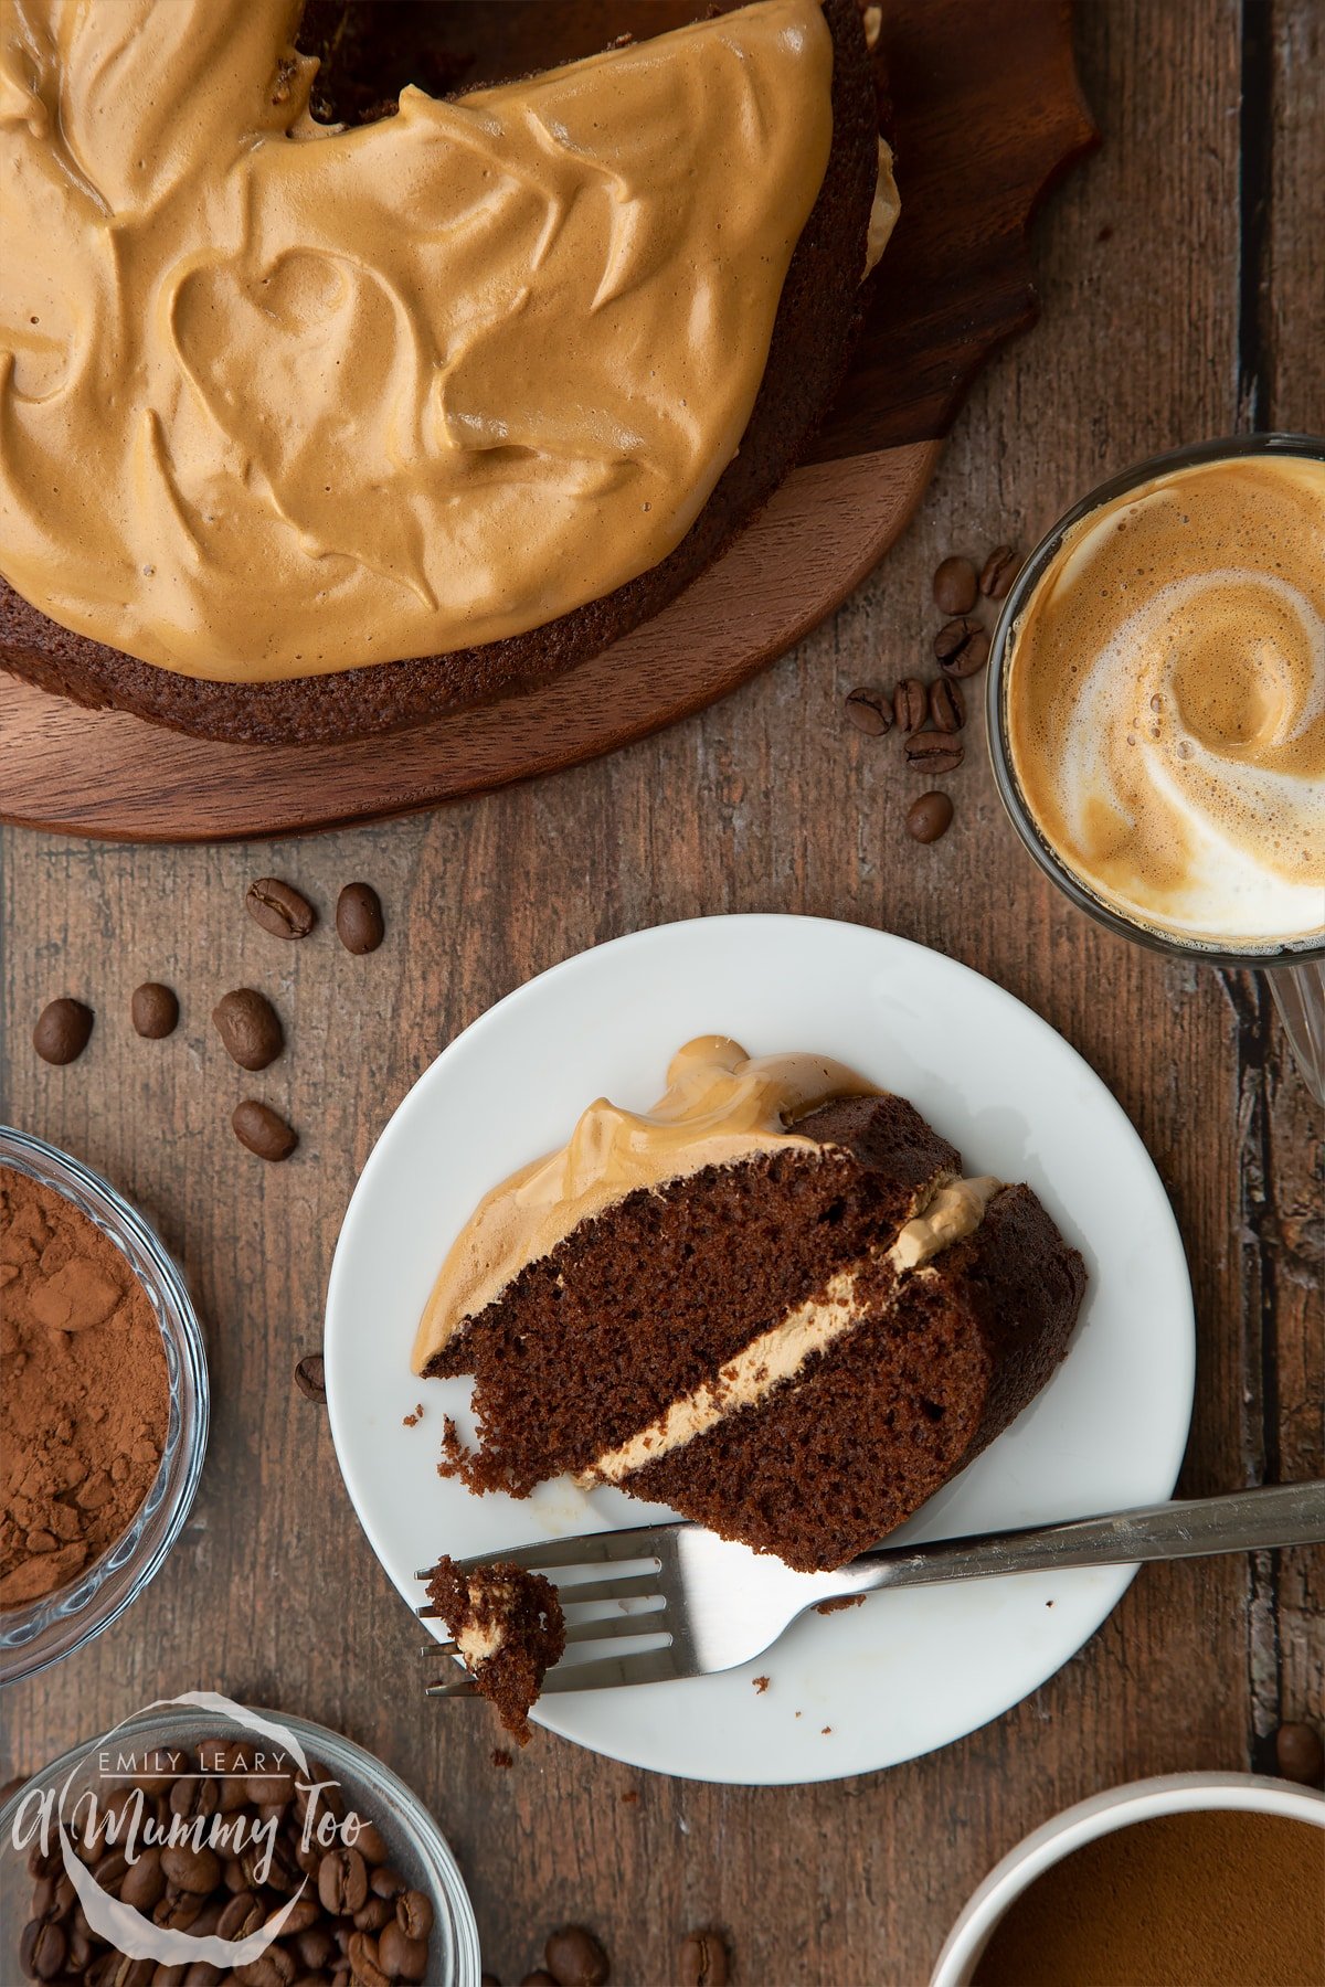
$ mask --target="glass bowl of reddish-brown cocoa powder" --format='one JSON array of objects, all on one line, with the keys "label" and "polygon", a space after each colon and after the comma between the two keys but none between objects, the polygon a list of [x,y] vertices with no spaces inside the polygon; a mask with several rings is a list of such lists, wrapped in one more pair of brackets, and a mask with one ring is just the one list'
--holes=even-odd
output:
[{"label": "glass bowl of reddish-brown cocoa powder", "polygon": [[123,1613],[207,1451],[203,1329],[159,1236],[77,1158],[0,1127],[0,1683]]}]

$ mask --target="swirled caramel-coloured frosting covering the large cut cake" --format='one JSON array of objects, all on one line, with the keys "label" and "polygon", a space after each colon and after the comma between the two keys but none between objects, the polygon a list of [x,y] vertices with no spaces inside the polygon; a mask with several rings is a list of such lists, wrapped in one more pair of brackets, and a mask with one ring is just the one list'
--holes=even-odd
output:
[{"label": "swirled caramel-coloured frosting covering the large cut cake", "polygon": [[298,14],[0,30],[0,570],[236,684],[495,642],[665,558],[832,141],[818,0],[362,129],[308,115]]}]

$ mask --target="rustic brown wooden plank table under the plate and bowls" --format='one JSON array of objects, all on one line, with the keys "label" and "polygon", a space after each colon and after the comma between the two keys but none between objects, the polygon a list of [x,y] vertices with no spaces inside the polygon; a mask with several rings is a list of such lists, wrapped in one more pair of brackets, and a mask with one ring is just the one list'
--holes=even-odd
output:
[{"label": "rustic brown wooden plank table under the plate and bowls", "polygon": [[[0,1778],[151,1697],[217,1687],[342,1727],[419,1788],[507,1987],[566,1917],[598,1927],[614,1981],[636,1987],[669,1983],[679,1935],[705,1921],[729,1929],[747,1987],[920,1987],[971,1886],[1057,1808],[1136,1774],[1265,1764],[1283,1717],[1319,1713],[1325,1566],[1285,1552],[1144,1570],[1043,1691],[886,1774],[709,1788],[548,1737],[499,1772],[483,1709],[419,1697],[417,1629],[354,1520],[326,1415],[292,1387],[358,1170],[457,1029],[618,932],[814,912],[989,974],[1122,1101],[1196,1286],[1182,1488],[1323,1472],[1321,1127],[1265,992],[1114,940],[1057,896],[1001,819],[979,721],[934,848],[902,833],[914,783],[896,739],[842,721],[854,684],[924,656],[948,550],[1027,544],[1106,471],[1172,443],[1325,429],[1317,0],[1083,0],[1079,40],[1104,147],[1039,225],[1043,322],[977,385],[908,536],[759,682],[614,759],[399,825],[211,850],[4,839],[8,1115],[159,1222],[209,1325],[215,1431],[153,1588],[6,1693]],[[387,944],[369,960],[326,930],[276,946],[242,912],[264,872],[324,908],[369,878]],[[145,978],[181,992],[171,1043],[129,1029]],[[238,984],[290,1023],[266,1093],[302,1146],[280,1168],[228,1131],[234,1071],[209,1013]],[[58,1071],[28,1033],[66,992],[99,1021]]]}]

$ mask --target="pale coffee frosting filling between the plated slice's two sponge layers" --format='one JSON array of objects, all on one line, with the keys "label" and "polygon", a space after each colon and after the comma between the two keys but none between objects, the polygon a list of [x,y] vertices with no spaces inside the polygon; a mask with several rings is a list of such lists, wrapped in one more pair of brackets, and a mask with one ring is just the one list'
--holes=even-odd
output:
[{"label": "pale coffee frosting filling between the plated slice's two sponge layers", "polygon": [[[926,1206],[900,1228],[882,1260],[896,1276],[922,1272],[942,1250],[977,1230],[999,1184],[989,1174],[938,1182]],[[580,1486],[620,1484],[648,1462],[658,1462],[697,1435],[707,1435],[737,1409],[759,1407],[775,1389],[795,1381],[814,1353],[826,1351],[860,1323],[854,1301],[858,1280],[860,1264],[838,1270],[818,1296],[751,1339],[715,1381],[705,1381],[673,1401],[648,1429],[640,1429],[628,1443],[598,1456],[576,1478]]]}]

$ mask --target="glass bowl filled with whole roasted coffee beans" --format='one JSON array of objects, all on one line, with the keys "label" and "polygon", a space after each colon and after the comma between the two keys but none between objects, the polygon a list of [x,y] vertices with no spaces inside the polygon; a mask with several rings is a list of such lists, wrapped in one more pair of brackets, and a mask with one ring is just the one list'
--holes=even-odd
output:
[{"label": "glass bowl filled with whole roasted coffee beans", "polygon": [[445,1838],[381,1760],[191,1693],[4,1804],[0,1979],[479,1987],[479,1933]]}]

